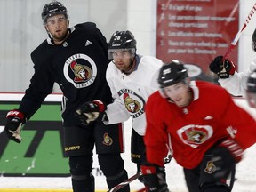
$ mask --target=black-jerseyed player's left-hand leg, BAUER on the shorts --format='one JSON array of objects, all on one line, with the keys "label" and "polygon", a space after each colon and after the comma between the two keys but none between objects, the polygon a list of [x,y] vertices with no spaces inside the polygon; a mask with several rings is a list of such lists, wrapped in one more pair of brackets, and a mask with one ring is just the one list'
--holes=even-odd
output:
[{"label": "black-jerseyed player's left-hand leg, BAUER on the shorts", "polygon": [[74,192],[94,192],[92,176],[93,127],[65,127],[65,155]]}]

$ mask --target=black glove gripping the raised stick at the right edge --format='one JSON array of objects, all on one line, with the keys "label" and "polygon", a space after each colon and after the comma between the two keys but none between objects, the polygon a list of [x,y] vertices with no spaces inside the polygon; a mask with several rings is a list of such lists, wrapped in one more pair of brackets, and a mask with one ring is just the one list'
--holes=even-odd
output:
[{"label": "black glove gripping the raised stick at the right edge", "polygon": [[209,65],[210,70],[220,76],[220,78],[228,78],[233,76],[236,71],[236,65],[231,60],[222,61],[223,56],[217,56]]}]

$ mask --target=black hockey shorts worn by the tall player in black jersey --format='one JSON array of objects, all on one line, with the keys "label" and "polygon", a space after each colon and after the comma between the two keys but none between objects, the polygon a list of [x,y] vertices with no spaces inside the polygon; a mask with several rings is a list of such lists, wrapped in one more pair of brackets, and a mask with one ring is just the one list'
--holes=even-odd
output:
[{"label": "black hockey shorts worn by the tall player in black jersey", "polygon": [[97,122],[84,127],[65,126],[65,156],[91,155],[94,144],[97,154],[124,152],[123,133],[123,124]]}]

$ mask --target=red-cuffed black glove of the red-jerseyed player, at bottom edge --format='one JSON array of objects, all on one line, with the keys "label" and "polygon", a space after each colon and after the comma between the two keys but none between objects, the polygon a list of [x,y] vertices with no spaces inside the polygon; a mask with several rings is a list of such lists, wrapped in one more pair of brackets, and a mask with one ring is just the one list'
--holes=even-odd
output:
[{"label": "red-cuffed black glove of the red-jerseyed player, at bottom edge", "polygon": [[147,191],[154,192],[169,192],[165,180],[164,167],[155,165],[141,165],[142,180],[147,188]]}]

